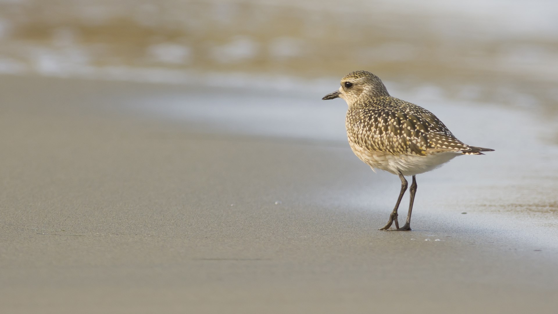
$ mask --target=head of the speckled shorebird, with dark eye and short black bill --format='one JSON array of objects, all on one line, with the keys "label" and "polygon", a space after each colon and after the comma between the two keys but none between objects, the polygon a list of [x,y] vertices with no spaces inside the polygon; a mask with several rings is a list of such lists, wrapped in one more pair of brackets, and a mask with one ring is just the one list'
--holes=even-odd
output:
[{"label": "head of the speckled shorebird, with dark eye and short black bill", "polygon": [[337,91],[329,93],[321,99],[340,97],[345,99],[350,106],[359,101],[378,96],[389,96],[382,80],[367,71],[354,71],[341,79],[341,87]]}]

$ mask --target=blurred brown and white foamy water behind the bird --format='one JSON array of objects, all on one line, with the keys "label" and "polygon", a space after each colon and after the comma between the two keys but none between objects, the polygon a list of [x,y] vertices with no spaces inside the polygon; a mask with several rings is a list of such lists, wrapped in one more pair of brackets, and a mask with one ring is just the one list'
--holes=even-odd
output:
[{"label": "blurred brown and white foamy water behind the bird", "polygon": [[0,73],[284,89],[367,69],[554,113],[557,21],[543,0],[3,0]]}]

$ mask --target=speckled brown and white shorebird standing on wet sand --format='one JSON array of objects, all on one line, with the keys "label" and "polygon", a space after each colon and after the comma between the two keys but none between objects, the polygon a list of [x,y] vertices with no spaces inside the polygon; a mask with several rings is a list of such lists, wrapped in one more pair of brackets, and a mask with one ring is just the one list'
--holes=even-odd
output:
[{"label": "speckled brown and white shorebird standing on wet sand", "polygon": [[[434,113],[416,104],[392,97],[376,75],[354,71],[341,79],[341,87],[323,100],[347,102],[345,128],[353,153],[372,170],[398,175],[401,191],[389,220],[379,230],[411,230],[411,212],[417,183],[415,176],[436,169],[460,155],[484,155],[489,148],[466,145],[455,137]],[[405,176],[412,176],[407,220],[401,228],[397,209],[407,191]]]}]

